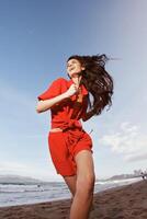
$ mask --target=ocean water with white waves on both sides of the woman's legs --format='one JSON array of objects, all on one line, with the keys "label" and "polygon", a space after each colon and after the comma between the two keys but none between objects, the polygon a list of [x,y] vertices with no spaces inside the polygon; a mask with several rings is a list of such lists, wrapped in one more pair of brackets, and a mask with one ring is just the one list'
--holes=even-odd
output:
[{"label": "ocean water with white waves on both sides of the woman's legs", "polygon": [[[98,181],[94,185],[94,193],[121,185],[127,185],[137,181],[140,181],[140,178],[106,182]],[[27,185],[0,184],[0,207],[36,204],[70,197],[71,194],[64,182],[49,182]]]}]

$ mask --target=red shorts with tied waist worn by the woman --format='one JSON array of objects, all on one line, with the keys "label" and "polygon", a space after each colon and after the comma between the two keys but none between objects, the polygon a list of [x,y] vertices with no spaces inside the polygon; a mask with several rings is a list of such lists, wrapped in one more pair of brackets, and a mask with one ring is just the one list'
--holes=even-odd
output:
[{"label": "red shorts with tied waist worn by the woman", "polygon": [[70,129],[48,134],[48,147],[57,174],[76,175],[75,155],[81,150],[92,151],[92,140],[84,130]]}]

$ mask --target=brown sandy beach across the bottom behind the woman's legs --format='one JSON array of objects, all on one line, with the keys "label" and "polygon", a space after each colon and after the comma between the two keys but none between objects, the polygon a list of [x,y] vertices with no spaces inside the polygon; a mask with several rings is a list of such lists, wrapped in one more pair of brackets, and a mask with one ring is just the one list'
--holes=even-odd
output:
[{"label": "brown sandy beach across the bottom behind the woman's legs", "polygon": [[[1,207],[0,219],[69,219],[70,199]],[[90,219],[147,219],[147,181],[94,194]]]}]

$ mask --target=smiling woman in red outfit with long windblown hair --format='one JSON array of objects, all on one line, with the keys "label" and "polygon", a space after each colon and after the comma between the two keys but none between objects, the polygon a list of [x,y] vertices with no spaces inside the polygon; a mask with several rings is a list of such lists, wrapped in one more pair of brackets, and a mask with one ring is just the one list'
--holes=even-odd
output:
[{"label": "smiling woman in red outfit with long windblown hair", "polygon": [[92,206],[92,140],[80,119],[86,122],[112,104],[113,79],[105,71],[106,60],[105,55],[69,57],[70,80],[58,78],[37,96],[37,113],[52,112],[48,146],[57,174],[72,194],[70,219],[88,219]]}]

